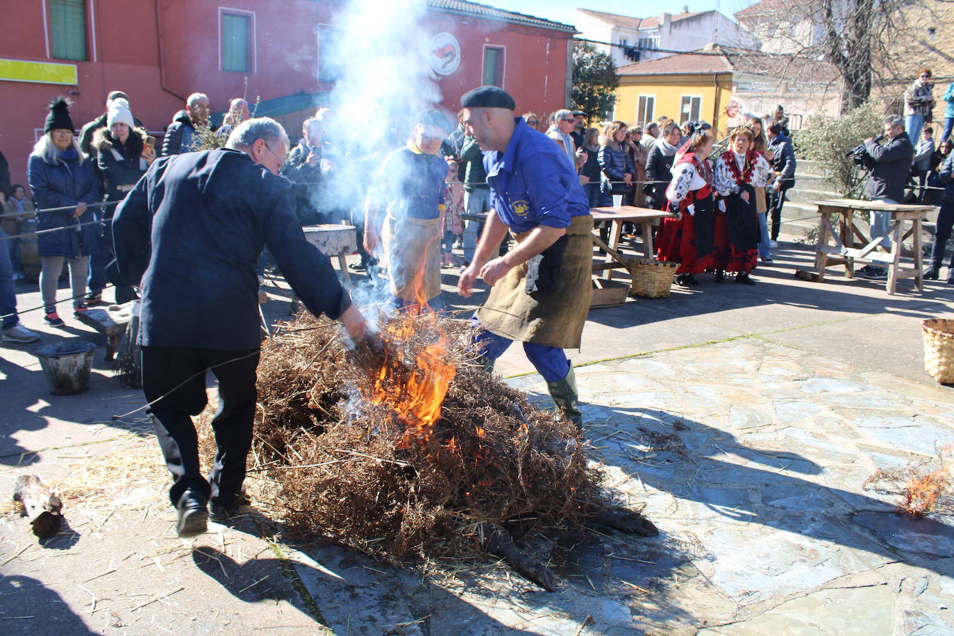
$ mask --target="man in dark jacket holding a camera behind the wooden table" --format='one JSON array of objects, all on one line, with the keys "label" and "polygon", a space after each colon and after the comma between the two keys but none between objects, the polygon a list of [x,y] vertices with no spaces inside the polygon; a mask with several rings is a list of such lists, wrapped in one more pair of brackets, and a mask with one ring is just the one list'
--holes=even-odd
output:
[{"label": "man in dark jacket holding a camera behind the wooden table", "polygon": [[[884,145],[879,143],[881,138],[887,139]],[[904,120],[897,114],[884,117],[884,134],[878,139],[868,137],[864,140],[862,165],[871,171],[864,186],[864,195],[879,203],[901,202],[913,158],[914,146],[904,132]],[[891,213],[874,210],[871,212],[872,236],[886,235],[890,224]],[[881,247],[890,250],[891,239],[887,236],[881,239]],[[857,274],[862,278],[886,278],[887,270],[865,265]]]}]

